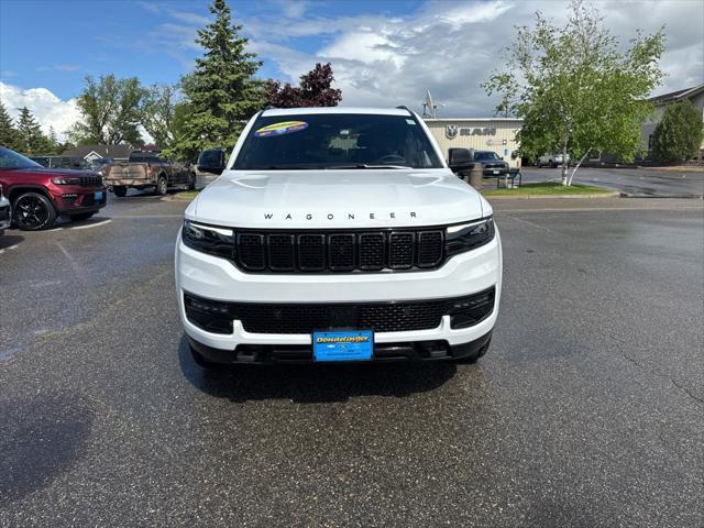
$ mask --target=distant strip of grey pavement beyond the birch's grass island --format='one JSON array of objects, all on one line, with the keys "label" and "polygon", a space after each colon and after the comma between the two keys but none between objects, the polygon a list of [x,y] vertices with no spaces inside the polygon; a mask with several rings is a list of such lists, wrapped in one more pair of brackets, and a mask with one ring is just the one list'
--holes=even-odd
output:
[{"label": "distant strip of grey pavement beyond the birch's grass island", "polygon": [[[560,182],[560,168],[521,168],[524,183]],[[704,172],[673,172],[651,168],[583,167],[574,183],[594,185],[623,193],[634,198],[702,198]]]}]

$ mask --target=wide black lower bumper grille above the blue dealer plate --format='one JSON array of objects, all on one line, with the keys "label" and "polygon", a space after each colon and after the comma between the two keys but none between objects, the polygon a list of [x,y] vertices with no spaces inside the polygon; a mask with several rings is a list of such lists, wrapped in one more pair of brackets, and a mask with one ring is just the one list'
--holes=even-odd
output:
[{"label": "wide black lower bumper grille above the blue dealer plate", "polygon": [[[311,333],[334,328],[372,329],[375,332],[432,330],[442,316],[452,328],[468,328],[494,309],[494,288],[450,299],[360,304],[223,302],[184,294],[188,319],[205,330],[231,333],[232,320],[252,333]],[[455,324],[457,319],[457,324]]]}]

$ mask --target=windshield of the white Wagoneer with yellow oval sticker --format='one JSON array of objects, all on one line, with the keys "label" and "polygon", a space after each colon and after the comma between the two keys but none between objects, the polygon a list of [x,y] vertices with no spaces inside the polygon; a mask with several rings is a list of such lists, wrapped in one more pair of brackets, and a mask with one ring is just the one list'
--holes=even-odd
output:
[{"label": "windshield of the white Wagoneer with yellow oval sticker", "polygon": [[440,168],[411,116],[319,113],[260,117],[233,168]]}]

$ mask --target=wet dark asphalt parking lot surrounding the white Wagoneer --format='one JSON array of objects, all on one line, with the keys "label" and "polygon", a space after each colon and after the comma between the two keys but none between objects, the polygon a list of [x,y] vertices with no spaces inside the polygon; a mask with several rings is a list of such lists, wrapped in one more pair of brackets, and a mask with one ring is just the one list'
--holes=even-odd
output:
[{"label": "wet dark asphalt parking lot surrounding the white Wagoneer", "polygon": [[173,286],[185,204],[9,231],[0,526],[704,526],[702,201],[495,204],[476,365],[207,374]]}]

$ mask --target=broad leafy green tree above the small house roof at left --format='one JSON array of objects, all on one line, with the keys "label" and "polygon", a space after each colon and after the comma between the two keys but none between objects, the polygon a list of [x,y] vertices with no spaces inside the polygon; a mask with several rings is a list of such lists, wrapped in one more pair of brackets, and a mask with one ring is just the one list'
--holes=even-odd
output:
[{"label": "broad leafy green tree above the small house roof at left", "polygon": [[97,82],[86,77],[86,87],[77,100],[82,119],[69,132],[72,141],[101,145],[141,143],[139,125],[145,95],[136,77],[118,79],[110,74]]}]

